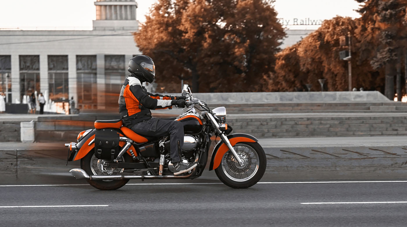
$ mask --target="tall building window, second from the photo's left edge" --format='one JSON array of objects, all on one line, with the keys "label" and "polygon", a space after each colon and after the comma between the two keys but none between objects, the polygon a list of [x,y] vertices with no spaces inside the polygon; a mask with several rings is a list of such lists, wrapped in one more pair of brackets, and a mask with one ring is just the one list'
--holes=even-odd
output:
[{"label": "tall building window, second from the photo's left edge", "polygon": [[20,100],[24,95],[40,92],[39,55],[20,55]]}]

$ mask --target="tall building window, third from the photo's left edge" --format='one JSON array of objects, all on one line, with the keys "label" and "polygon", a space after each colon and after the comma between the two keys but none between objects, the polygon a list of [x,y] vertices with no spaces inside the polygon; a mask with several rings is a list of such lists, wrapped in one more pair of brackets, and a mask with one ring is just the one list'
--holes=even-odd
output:
[{"label": "tall building window, third from the photo's left edge", "polygon": [[68,101],[68,56],[48,55],[48,89],[53,101]]}]

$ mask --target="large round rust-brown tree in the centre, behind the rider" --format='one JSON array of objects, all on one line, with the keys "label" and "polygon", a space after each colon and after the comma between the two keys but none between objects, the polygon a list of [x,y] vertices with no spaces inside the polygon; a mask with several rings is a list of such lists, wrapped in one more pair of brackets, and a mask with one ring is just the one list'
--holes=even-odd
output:
[{"label": "large round rust-brown tree in the centre, behind the rider", "polygon": [[[242,92],[274,70],[285,33],[272,0],[159,0],[134,40],[157,82],[193,92]],[[179,90],[167,90],[178,92]]]}]

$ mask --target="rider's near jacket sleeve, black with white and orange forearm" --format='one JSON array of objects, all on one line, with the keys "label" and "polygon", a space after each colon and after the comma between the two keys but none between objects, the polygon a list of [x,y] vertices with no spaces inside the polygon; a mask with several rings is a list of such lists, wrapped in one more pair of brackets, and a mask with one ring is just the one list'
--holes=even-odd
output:
[{"label": "rider's near jacket sleeve, black with white and orange forearm", "polygon": [[144,90],[140,84],[132,84],[130,86],[130,91],[142,106],[150,110],[165,109],[172,106],[171,99],[152,98],[148,94],[144,93]]}]

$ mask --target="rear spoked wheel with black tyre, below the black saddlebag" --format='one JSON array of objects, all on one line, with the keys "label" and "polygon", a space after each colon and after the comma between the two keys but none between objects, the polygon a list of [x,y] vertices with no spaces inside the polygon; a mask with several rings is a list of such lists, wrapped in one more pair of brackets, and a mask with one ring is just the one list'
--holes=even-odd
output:
[{"label": "rear spoked wheel with black tyre, below the black saddlebag", "polygon": [[[133,162],[133,159],[131,156],[129,156],[127,153],[123,155],[121,158],[121,161],[124,162]],[[95,160],[97,161],[95,155],[94,155],[94,150],[91,150],[85,157],[81,159],[81,168],[82,170],[85,170],[85,172],[91,176],[91,175],[107,175],[106,173],[101,174],[101,172],[98,172],[95,169],[94,162]],[[93,167],[92,167],[93,163]],[[93,168],[93,171],[92,171]],[[116,169],[116,168],[114,168]],[[124,169],[123,169],[124,170]],[[115,173],[120,173],[123,172],[122,169],[116,170]],[[86,179],[90,185],[93,187],[99,189],[99,190],[116,190],[119,189],[120,187],[123,187],[127,182],[129,182],[129,179],[123,179],[123,180],[97,180],[97,181],[91,181],[89,179]]]}]

